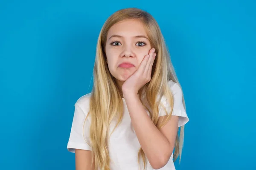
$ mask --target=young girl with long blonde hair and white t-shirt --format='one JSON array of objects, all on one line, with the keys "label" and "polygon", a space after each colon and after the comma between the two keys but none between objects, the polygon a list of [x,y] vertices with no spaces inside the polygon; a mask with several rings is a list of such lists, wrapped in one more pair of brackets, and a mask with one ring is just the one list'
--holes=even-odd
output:
[{"label": "young girl with long blonde hair and white t-shirt", "polygon": [[156,20],[137,8],[112,14],[93,75],[92,92],[75,104],[67,144],[76,170],[175,170],[189,119]]}]

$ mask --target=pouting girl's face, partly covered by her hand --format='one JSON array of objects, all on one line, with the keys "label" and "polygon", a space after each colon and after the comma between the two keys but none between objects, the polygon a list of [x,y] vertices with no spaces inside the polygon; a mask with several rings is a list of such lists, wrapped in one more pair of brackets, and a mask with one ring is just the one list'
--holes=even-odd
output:
[{"label": "pouting girl's face, partly covered by her hand", "polygon": [[[140,66],[151,49],[143,23],[128,19],[114,24],[108,31],[105,52],[112,76],[125,82]],[[130,62],[132,65],[120,65]]]}]

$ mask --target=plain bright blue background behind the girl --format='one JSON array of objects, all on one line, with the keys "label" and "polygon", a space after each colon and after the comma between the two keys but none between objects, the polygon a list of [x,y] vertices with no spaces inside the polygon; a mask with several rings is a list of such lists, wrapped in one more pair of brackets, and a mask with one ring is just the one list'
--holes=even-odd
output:
[{"label": "plain bright blue background behind the girl", "polygon": [[253,0],[1,0],[0,169],[75,169],[74,104],[92,88],[103,23],[128,7],[155,17],[183,88],[190,122],[176,169],[255,170]]}]

